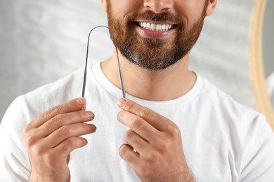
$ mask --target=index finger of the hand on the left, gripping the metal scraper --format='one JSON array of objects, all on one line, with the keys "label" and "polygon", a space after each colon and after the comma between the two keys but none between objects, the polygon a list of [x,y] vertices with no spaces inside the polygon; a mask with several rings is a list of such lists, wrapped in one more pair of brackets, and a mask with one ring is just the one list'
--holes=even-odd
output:
[{"label": "index finger of the hand on the left, gripping the metal scraper", "polygon": [[86,109],[86,99],[84,97],[72,99],[58,106],[53,106],[51,109],[41,113],[40,116],[32,120],[30,124],[33,127],[39,127],[58,114],[79,111],[80,109]]}]

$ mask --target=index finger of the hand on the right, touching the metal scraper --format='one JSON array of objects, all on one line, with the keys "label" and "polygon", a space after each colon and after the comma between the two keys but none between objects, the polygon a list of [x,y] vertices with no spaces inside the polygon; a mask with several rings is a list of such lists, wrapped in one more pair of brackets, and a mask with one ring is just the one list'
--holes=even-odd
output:
[{"label": "index finger of the hand on the right, touching the metal scraper", "polygon": [[159,113],[156,113],[155,111],[152,111],[145,106],[141,106],[136,102],[131,101],[130,99],[119,99],[117,105],[124,111],[128,111],[130,113],[136,114],[137,116],[140,116],[143,118],[143,120],[150,123],[150,125],[159,131],[165,131],[169,129],[170,125],[174,125],[174,123],[168,118],[165,118]]}]

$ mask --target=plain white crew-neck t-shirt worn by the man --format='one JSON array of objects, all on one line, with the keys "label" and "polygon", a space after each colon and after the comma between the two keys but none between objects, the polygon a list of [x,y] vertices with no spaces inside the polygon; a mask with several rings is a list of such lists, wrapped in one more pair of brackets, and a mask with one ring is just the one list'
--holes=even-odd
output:
[{"label": "plain white crew-neck t-shirt worn by the man", "polygon": [[[83,70],[18,97],[0,127],[0,181],[28,181],[31,165],[22,128],[46,109],[81,96]],[[90,66],[86,84],[87,110],[97,127],[85,135],[89,144],[71,153],[71,181],[139,181],[119,157],[128,128],[117,121],[122,97],[100,64]],[[274,136],[265,118],[197,75],[182,97],[150,102],[127,94],[172,120],[181,130],[183,151],[197,181],[274,181]],[[171,148],[172,150],[172,148]]]}]

